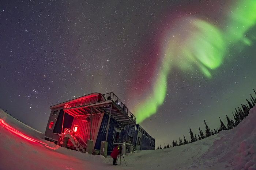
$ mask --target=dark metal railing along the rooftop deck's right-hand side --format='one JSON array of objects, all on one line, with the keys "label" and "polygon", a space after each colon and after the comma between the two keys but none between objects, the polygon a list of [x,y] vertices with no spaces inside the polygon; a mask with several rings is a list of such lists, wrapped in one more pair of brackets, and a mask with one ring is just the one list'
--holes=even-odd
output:
[{"label": "dark metal railing along the rooftop deck's right-hand side", "polygon": [[103,97],[105,98],[105,100],[113,100],[116,106],[119,107],[120,110],[124,112],[124,114],[128,115],[136,122],[136,117],[132,114],[131,111],[129,111],[125,104],[121,102],[121,100],[113,92],[103,94]]}]

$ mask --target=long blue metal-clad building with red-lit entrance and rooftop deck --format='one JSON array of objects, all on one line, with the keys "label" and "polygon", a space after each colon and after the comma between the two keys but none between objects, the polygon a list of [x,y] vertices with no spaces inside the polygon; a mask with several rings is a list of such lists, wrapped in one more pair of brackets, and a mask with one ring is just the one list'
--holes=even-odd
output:
[{"label": "long blue metal-clad building with red-lit entrance and rooftop deck", "polygon": [[45,139],[63,147],[105,156],[120,144],[129,150],[155,149],[155,139],[113,92],[92,93],[50,109]]}]

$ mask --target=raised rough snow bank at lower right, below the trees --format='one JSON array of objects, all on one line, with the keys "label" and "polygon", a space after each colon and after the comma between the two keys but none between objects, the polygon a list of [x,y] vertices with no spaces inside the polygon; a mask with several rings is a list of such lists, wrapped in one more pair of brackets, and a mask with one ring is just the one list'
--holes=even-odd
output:
[{"label": "raised rough snow bank at lower right, below the trees", "polygon": [[[212,147],[195,160],[193,167],[256,170],[256,106],[232,130],[221,131]],[[200,165],[200,162],[206,162]]]}]

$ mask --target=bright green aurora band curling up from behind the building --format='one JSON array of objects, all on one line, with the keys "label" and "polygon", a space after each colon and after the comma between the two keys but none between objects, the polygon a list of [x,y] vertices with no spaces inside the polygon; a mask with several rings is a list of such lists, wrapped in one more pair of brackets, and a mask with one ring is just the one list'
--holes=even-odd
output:
[{"label": "bright green aurora band curling up from behind the building", "polygon": [[[228,22],[224,28],[218,28],[210,21],[185,17],[180,24],[166,33],[168,36],[165,36],[166,44],[162,47],[162,59],[152,82],[153,95],[146,96],[135,107],[137,123],[155,114],[164,102],[171,68],[191,72],[199,69],[202,75],[211,79],[211,70],[221,66],[228,47],[251,45],[246,32],[256,23],[256,1],[237,1],[234,8],[227,13],[230,15],[225,19]],[[183,25],[187,25],[186,28]]]}]

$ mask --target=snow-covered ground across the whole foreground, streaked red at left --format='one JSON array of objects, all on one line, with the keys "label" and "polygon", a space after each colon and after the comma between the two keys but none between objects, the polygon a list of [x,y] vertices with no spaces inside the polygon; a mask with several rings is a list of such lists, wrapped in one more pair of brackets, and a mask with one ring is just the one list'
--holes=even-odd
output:
[{"label": "snow-covered ground across the whole foreground, streaked red at left", "polygon": [[[66,149],[44,140],[0,110],[0,169],[249,169],[256,170],[256,107],[232,130],[187,145],[138,151],[118,160]],[[171,139],[170,139],[171,140]]]}]

